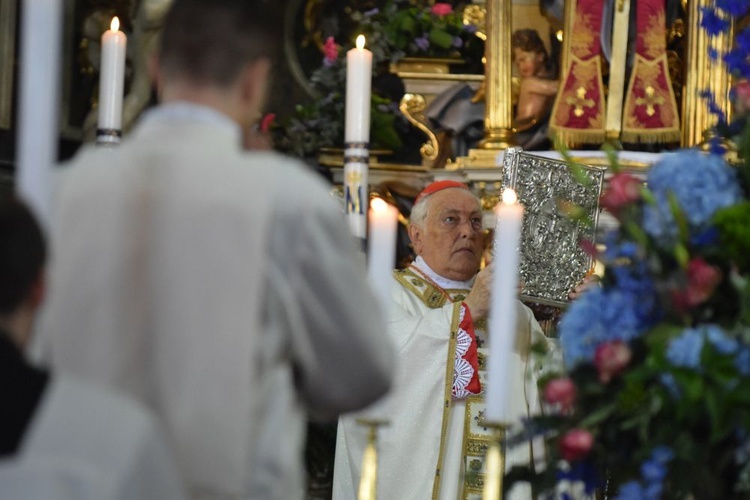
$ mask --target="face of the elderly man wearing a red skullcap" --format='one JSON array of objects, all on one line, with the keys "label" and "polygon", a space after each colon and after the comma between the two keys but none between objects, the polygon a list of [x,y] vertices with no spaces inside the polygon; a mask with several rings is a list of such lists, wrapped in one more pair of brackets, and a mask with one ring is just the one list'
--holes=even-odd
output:
[{"label": "face of the elderly man wearing a red skullcap", "polygon": [[477,199],[461,188],[430,195],[424,227],[410,226],[417,255],[444,278],[466,281],[482,260],[482,212]]}]

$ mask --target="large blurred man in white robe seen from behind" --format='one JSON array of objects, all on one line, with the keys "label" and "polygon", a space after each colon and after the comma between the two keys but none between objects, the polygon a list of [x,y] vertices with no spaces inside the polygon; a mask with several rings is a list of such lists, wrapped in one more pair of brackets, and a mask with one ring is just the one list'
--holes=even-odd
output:
[{"label": "large blurred man in white robe seen from behind", "polygon": [[306,420],[389,388],[393,350],[330,188],[243,143],[281,45],[262,0],[175,0],[161,104],[63,168],[37,352],[162,418],[193,498],[303,496]]}]

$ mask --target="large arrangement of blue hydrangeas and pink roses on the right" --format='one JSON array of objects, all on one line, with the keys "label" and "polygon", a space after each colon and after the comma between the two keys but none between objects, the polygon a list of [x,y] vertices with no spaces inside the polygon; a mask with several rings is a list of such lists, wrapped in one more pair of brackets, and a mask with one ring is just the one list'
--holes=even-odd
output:
[{"label": "large arrangement of blue hydrangeas and pink roses on the right", "polygon": [[[749,9],[717,0],[704,21]],[[737,40],[724,61],[745,85],[750,30]],[[665,153],[644,184],[611,159],[601,204],[619,225],[603,251],[587,245],[605,265],[601,286],[558,325],[565,366],[542,381],[549,411],[508,441],[543,437],[547,467],[508,483],[554,498],[750,498],[747,115],[717,130],[738,162],[725,161],[726,140]]]}]

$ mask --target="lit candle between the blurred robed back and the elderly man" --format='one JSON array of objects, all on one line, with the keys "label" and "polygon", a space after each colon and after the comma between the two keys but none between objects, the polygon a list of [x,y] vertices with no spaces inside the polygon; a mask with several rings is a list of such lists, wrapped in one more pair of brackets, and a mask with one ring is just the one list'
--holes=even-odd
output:
[{"label": "lit candle between the blurred robed back and the elderly man", "polygon": [[367,241],[367,274],[385,307],[388,303],[391,273],[396,266],[396,225],[398,210],[380,198],[370,202],[370,237]]}]

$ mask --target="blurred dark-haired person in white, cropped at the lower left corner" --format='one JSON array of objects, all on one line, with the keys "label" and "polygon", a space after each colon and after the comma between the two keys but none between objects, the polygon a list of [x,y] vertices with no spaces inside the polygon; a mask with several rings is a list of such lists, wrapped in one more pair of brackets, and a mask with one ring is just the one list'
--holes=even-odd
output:
[{"label": "blurred dark-haired person in white, cropped at the lower left corner", "polygon": [[0,200],[0,498],[185,498],[150,412],[25,359],[44,298],[45,259],[29,209]]}]

